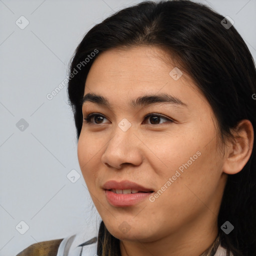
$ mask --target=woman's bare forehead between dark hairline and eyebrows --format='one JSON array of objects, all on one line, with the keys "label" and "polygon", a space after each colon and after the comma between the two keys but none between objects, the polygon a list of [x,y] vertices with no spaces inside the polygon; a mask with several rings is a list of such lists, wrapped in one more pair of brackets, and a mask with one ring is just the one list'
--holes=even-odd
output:
[{"label": "woman's bare forehead between dark hairline and eyebrows", "polygon": [[[114,48],[102,52],[91,65],[85,81],[86,93],[104,94],[110,100],[144,94],[168,93],[183,102],[200,91],[184,70],[159,47]],[[173,73],[177,71],[176,77]],[[180,76],[181,74],[181,76]],[[180,76],[180,77],[179,77]],[[176,79],[179,77],[178,79]]]}]

